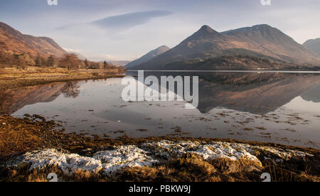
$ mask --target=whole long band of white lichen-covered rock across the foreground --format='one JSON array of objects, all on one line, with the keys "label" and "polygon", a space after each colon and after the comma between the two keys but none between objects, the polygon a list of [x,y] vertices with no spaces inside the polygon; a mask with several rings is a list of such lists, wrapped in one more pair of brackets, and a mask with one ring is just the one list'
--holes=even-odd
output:
[{"label": "whole long band of white lichen-covered rock across the foreground", "polygon": [[[30,165],[30,170],[55,166],[64,173],[72,174],[77,170],[90,173],[103,173],[114,175],[124,168],[152,166],[159,163],[159,159],[171,160],[182,158],[187,153],[201,156],[204,160],[227,159],[235,163],[247,163],[252,170],[260,168],[264,159],[276,162],[290,158],[312,156],[300,151],[286,150],[267,146],[251,146],[243,143],[227,142],[198,142],[198,141],[155,141],[142,143],[139,146],[119,146],[114,150],[100,151],[93,157],[79,156],[78,154],[62,153],[55,149],[33,151],[19,156],[4,165],[7,168],[16,168],[19,165]],[[257,157],[260,157],[258,159]],[[262,160],[264,160],[262,158]],[[223,165],[222,165],[223,166]],[[224,165],[235,170],[233,165]],[[242,164],[242,166],[246,166]]]}]

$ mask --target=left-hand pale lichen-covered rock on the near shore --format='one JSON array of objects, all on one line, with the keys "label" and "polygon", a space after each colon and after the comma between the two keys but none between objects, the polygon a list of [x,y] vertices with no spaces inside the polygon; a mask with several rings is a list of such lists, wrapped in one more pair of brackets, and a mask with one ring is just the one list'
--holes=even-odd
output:
[{"label": "left-hand pale lichen-covered rock on the near shore", "polygon": [[6,167],[16,168],[18,165],[30,165],[29,170],[55,166],[66,174],[73,174],[77,170],[85,170],[90,173],[102,171],[106,175],[117,173],[123,168],[152,166],[158,160],[147,156],[137,146],[120,146],[112,151],[101,151],[92,158],[79,156],[78,154],[60,153],[55,149],[45,151],[33,151],[19,156]]}]

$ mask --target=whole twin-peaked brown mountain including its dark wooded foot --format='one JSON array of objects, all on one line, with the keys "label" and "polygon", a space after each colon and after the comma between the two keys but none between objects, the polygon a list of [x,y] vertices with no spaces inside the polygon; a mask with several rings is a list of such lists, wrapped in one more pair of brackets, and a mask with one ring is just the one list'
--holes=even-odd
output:
[{"label": "whole twin-peaked brown mountain including its dark wooded foot", "polygon": [[[209,26],[176,47],[130,70],[201,70],[225,68],[288,68],[320,65],[320,58],[286,34],[268,25],[219,33]],[[209,66],[209,67],[208,67]],[[269,67],[268,67],[269,66]],[[271,67],[270,67],[271,66]]]}]

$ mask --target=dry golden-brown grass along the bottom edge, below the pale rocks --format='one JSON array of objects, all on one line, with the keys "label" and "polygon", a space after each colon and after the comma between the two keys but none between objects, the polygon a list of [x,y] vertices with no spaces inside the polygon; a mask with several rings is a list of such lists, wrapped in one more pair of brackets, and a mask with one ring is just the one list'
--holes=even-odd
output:
[{"label": "dry golden-brown grass along the bottom edge, below the pale rocks", "polygon": [[28,165],[20,165],[0,173],[0,181],[47,182],[48,174],[56,173],[59,181],[68,182],[261,182],[261,174],[270,173],[272,182],[319,182],[319,170],[314,168],[319,169],[319,157],[317,159],[314,165],[301,159],[283,164],[265,160],[261,166],[250,160],[218,158],[206,161],[201,156],[186,154],[154,167],[127,168],[110,178],[83,170],[63,173],[55,167],[30,171]]}]

